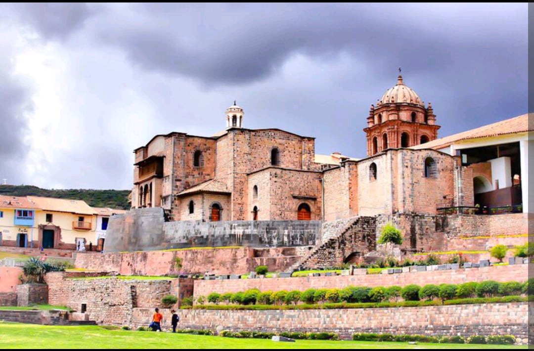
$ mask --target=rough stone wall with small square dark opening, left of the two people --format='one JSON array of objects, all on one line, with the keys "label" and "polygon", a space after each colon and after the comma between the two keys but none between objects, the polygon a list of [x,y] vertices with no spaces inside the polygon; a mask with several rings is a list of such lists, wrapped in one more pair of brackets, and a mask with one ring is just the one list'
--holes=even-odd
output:
[{"label": "rough stone wall with small square dark opening, left of the two people", "polygon": [[81,311],[82,304],[91,321],[123,325],[132,308],[163,307],[161,299],[171,292],[169,280],[124,280],[116,277],[83,279],[80,272],[46,274],[50,305]]}]

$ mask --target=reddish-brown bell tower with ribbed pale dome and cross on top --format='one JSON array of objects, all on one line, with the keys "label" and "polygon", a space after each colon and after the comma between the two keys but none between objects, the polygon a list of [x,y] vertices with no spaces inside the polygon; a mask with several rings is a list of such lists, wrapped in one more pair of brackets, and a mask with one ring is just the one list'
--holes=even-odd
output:
[{"label": "reddish-brown bell tower with ribbed pale dome and cross on top", "polygon": [[[400,68],[399,68],[400,73]],[[437,138],[436,115],[432,105],[421,101],[402,75],[388,89],[367,117],[367,156],[387,149],[424,144]]]}]

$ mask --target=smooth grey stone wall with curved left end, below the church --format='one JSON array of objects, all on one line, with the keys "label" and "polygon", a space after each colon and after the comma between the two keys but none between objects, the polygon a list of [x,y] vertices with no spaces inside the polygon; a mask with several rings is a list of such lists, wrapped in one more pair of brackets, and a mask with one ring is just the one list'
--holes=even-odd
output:
[{"label": "smooth grey stone wall with curved left end, below the church", "polygon": [[315,245],[320,227],[319,221],[164,222],[161,208],[138,208],[109,219],[104,251],[310,246]]}]

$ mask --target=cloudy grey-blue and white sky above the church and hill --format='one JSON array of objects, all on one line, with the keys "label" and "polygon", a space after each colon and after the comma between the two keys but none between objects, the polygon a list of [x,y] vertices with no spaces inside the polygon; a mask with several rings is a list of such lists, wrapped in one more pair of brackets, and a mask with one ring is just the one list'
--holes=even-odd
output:
[{"label": "cloudy grey-blue and white sky above the church and hill", "polygon": [[0,180],[131,189],[133,150],[244,127],[366,155],[404,82],[438,136],[528,112],[528,4],[0,4]]}]

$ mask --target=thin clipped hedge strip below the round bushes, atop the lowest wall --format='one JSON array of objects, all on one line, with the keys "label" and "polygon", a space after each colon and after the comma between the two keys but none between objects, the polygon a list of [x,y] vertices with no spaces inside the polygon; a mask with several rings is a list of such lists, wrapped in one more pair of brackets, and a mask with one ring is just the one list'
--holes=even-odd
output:
[{"label": "thin clipped hedge strip below the round bushes, atop the lowest wall", "polygon": [[[522,296],[506,296],[494,298],[474,298],[458,299],[445,301],[445,305],[473,305],[475,303],[502,303],[502,302],[527,302],[529,299]],[[302,305],[195,305],[193,309],[212,309],[212,310],[295,310],[295,309],[342,309],[342,308],[386,308],[386,307],[424,307],[424,306],[441,306],[442,302],[437,300],[431,301],[399,301],[399,302],[338,302],[338,303],[316,303]],[[191,306],[182,307],[182,309],[191,309]]]}]

